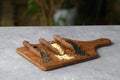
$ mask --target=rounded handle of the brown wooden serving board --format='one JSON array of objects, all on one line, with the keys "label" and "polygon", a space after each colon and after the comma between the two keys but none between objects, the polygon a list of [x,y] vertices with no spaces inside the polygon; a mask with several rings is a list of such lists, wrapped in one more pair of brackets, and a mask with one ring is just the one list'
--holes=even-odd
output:
[{"label": "rounded handle of the brown wooden serving board", "polygon": [[107,38],[100,38],[93,41],[95,48],[101,47],[101,46],[108,46],[111,44],[111,40]]}]

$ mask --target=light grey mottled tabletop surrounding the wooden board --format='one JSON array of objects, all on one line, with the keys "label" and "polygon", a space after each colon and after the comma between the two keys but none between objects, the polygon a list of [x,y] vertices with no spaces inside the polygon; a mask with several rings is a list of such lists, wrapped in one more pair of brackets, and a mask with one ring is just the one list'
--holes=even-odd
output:
[{"label": "light grey mottled tabletop surrounding the wooden board", "polygon": [[[105,37],[114,44],[99,48],[100,58],[52,71],[42,71],[16,53],[23,40],[38,43],[54,34],[77,40]],[[0,80],[120,80],[119,34],[117,26],[0,28]]]}]

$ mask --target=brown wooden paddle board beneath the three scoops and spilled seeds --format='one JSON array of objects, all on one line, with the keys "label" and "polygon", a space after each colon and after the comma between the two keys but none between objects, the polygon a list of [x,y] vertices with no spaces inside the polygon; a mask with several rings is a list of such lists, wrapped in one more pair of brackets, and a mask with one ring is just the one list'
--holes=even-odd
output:
[{"label": "brown wooden paddle board beneath the three scoops and spilled seeds", "polygon": [[[64,38],[64,40],[72,40],[72,39],[67,39]],[[106,38],[101,38],[93,41],[78,41],[78,40],[72,40],[75,42],[79,47],[81,47],[83,50],[87,52],[88,55],[79,55],[79,54],[74,54],[74,51],[71,51],[69,49],[66,49],[65,47],[64,50],[67,51],[67,54],[70,56],[73,56],[74,58],[70,60],[59,60],[57,57],[55,57],[55,53],[49,51],[46,49],[48,55],[53,59],[50,62],[43,63],[40,61],[40,57],[32,53],[29,49],[26,47],[20,47],[17,48],[17,53],[35,64],[38,68],[42,70],[52,70],[60,67],[64,67],[67,65],[75,64],[78,62],[83,62],[91,59],[95,59],[99,57],[99,55],[96,52],[96,48],[101,47],[101,46],[108,46],[111,44],[111,41]],[[54,41],[52,41],[54,42]],[[41,44],[35,44],[40,46]]]}]

